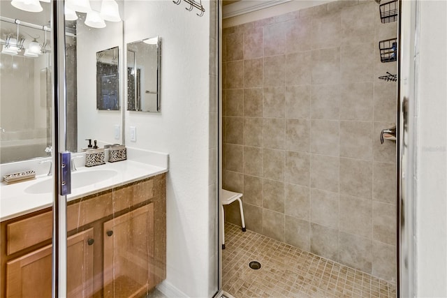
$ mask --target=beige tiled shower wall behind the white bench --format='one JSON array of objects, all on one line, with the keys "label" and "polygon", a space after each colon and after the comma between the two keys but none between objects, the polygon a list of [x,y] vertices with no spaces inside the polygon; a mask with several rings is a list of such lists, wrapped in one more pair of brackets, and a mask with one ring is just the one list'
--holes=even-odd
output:
[{"label": "beige tiled shower wall behind the white bench", "polygon": [[[223,30],[223,188],[247,228],[395,281],[397,37],[374,1],[335,1]],[[226,220],[240,224],[237,204]]]}]

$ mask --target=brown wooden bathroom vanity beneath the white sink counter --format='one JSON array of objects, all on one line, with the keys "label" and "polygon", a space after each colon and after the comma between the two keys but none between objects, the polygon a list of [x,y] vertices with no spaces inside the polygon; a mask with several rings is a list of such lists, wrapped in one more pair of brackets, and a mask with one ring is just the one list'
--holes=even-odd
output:
[{"label": "brown wooden bathroom vanity beneath the white sink counter", "polygon": [[[68,198],[68,297],[144,297],[166,278],[166,171]],[[51,297],[52,207],[43,206],[1,211],[1,298]]]}]

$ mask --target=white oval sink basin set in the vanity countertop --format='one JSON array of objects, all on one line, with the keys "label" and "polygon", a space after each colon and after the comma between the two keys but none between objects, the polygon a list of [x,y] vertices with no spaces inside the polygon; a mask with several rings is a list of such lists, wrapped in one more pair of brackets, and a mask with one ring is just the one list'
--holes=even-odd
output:
[{"label": "white oval sink basin set in the vanity countertop", "polygon": [[[115,170],[89,170],[71,173],[71,189],[89,186],[110,179],[118,174]],[[52,192],[53,180],[51,177],[45,180],[38,179],[36,183],[24,189],[25,193],[38,195]]]}]

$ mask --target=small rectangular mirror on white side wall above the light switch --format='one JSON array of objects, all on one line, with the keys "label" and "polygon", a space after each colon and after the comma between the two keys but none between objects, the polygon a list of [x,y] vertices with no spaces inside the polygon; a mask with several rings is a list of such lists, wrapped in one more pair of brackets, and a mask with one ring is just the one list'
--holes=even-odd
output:
[{"label": "small rectangular mirror on white side wall above the light switch", "polygon": [[127,110],[160,112],[160,38],[127,44]]}]

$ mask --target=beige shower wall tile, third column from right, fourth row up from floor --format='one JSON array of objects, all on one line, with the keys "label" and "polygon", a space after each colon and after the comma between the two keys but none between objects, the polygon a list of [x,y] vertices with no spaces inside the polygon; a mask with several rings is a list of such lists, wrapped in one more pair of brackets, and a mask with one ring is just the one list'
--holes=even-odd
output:
[{"label": "beige shower wall tile, third column from right, fourth row up from floor", "polygon": [[339,121],[311,121],[310,151],[314,154],[339,156]]}]

